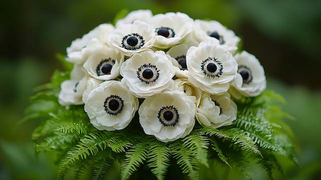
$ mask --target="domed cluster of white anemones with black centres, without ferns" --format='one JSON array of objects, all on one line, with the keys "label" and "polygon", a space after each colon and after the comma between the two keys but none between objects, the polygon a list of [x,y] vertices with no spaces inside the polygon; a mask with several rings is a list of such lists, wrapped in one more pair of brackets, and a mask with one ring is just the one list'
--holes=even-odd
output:
[{"label": "domed cluster of white anemones with black centres, without ferns", "polygon": [[84,104],[99,130],[124,129],[139,116],[143,131],[163,142],[187,136],[196,120],[211,128],[231,125],[233,100],[266,87],[255,56],[236,53],[239,41],[217,21],[131,12],[67,48],[74,69],[61,84],[59,103]]}]

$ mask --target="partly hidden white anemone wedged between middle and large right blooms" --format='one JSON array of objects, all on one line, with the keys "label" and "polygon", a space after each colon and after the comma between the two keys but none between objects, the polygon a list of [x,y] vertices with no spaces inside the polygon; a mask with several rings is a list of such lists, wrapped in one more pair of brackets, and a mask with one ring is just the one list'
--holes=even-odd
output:
[{"label": "partly hidden white anemone wedged between middle and large right blooms", "polygon": [[174,46],[166,53],[167,55],[170,55],[172,58],[174,58],[171,59],[173,65],[180,68],[180,70],[175,74],[176,77],[188,79],[189,71],[187,70],[186,65],[186,54],[190,47],[198,45],[199,43],[197,41],[190,40],[184,44]]}]

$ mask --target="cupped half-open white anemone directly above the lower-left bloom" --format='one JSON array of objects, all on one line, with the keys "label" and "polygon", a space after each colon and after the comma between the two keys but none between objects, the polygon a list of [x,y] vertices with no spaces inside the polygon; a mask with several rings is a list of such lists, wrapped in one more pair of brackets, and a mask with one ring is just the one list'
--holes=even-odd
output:
[{"label": "cupped half-open white anemone directly above the lower-left bloom", "polygon": [[119,76],[119,69],[123,62],[124,55],[117,49],[102,46],[88,57],[84,68],[92,77],[107,81]]}]

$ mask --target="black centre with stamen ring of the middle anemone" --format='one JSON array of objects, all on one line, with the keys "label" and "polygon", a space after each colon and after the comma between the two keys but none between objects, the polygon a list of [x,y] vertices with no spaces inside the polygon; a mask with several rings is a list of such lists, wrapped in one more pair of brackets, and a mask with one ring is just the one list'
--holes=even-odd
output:
[{"label": "black centre with stamen ring of the middle anemone", "polygon": [[137,78],[146,84],[156,82],[159,78],[159,70],[153,64],[143,64],[137,69]]}]

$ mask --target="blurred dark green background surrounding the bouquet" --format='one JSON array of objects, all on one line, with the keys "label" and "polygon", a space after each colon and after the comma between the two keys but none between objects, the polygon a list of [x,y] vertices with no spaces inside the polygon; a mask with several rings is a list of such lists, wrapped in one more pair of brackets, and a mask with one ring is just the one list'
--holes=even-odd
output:
[{"label": "blurred dark green background surrounding the bouquet", "polygon": [[[285,97],[283,110],[296,118],[286,123],[296,136],[300,166],[282,162],[286,178],[321,178],[321,1],[14,0],[1,1],[0,7],[0,179],[55,179],[52,155],[36,154],[31,141],[40,122],[17,123],[33,88],[61,68],[55,54],[65,54],[72,40],[111,22],[122,9],[180,11],[235,31],[243,49],[264,66],[268,89]],[[265,178],[256,172],[257,179]]]}]

